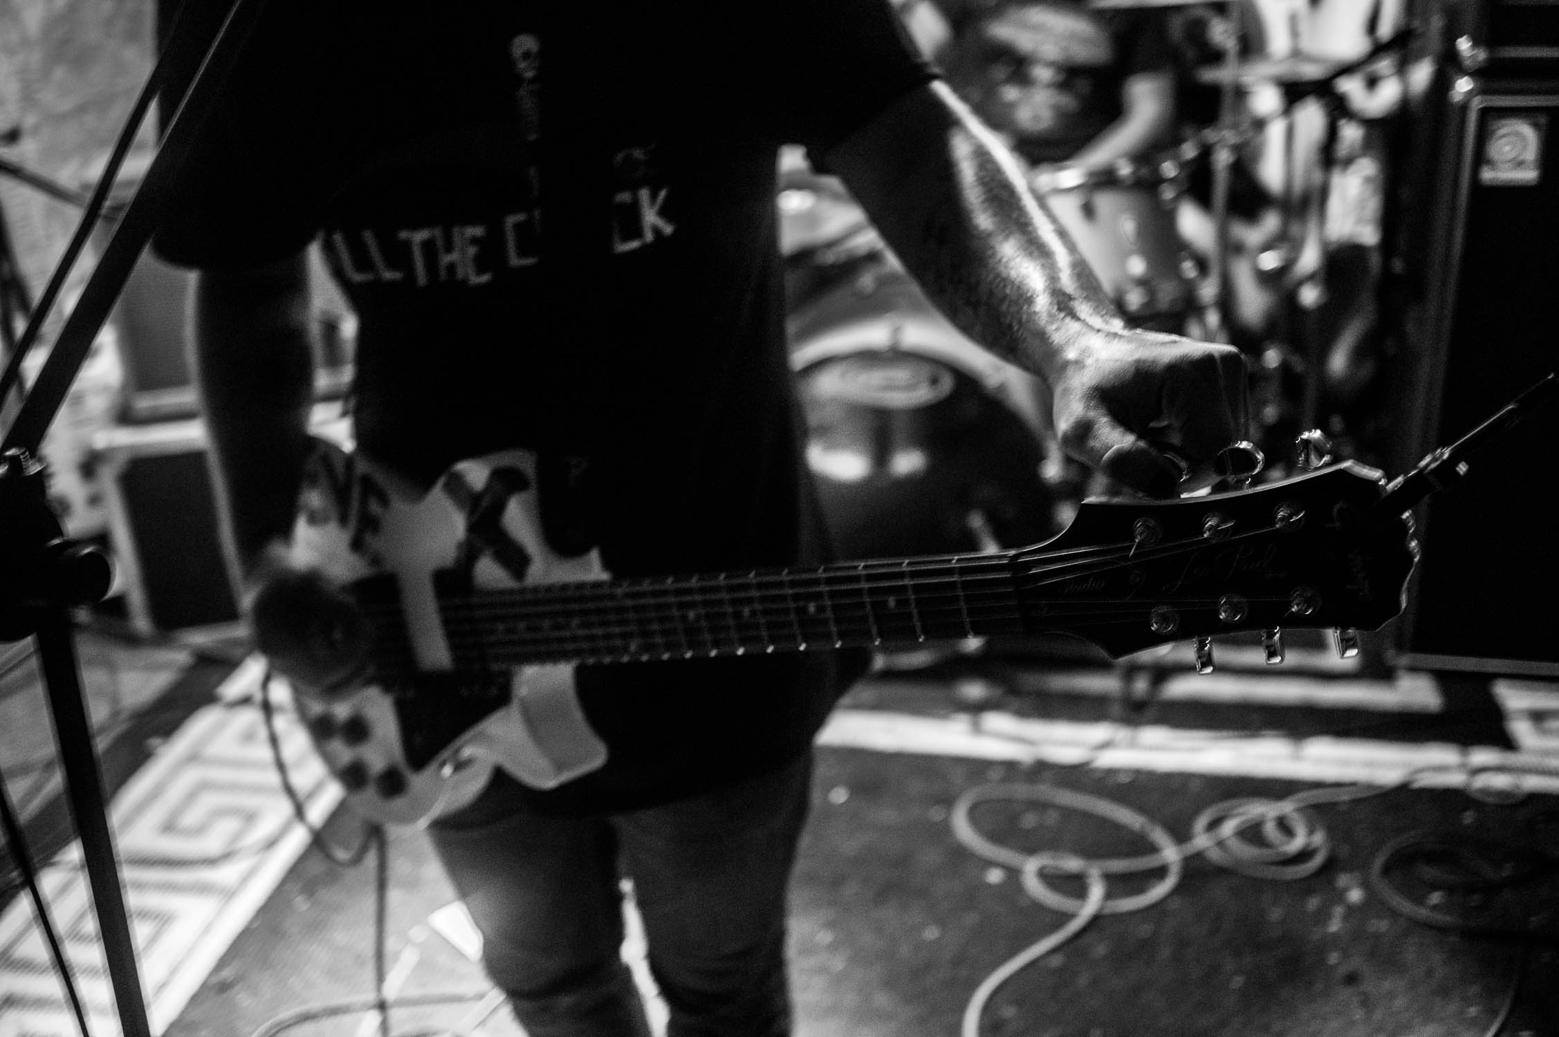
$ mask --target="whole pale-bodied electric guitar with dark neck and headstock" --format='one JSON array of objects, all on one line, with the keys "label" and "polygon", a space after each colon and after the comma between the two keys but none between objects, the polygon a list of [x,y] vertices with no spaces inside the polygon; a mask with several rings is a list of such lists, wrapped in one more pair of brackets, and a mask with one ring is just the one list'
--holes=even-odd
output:
[{"label": "whole pale-bodied electric guitar with dark neck and headstock", "polygon": [[[1417,558],[1381,472],[1341,462],[1250,490],[1087,501],[1054,540],[993,554],[611,579],[543,536],[536,458],[461,462],[429,491],[320,443],[296,561],[349,585],[374,632],[371,678],[299,689],[315,747],[363,817],[416,825],[502,767],[552,787],[600,767],[574,666],[906,646],[1062,632],[1110,657],[1283,627],[1373,630]],[[1345,647],[1345,646],[1344,646]]]}]

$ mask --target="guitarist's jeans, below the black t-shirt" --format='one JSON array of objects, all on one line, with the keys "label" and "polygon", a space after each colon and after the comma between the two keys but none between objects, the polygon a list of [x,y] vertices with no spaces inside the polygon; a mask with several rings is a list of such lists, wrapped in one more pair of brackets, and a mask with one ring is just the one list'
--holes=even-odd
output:
[{"label": "guitarist's jeans, below the black t-shirt", "polygon": [[784,1037],[786,890],[811,756],[741,784],[605,817],[493,809],[432,826],[483,937],[488,975],[530,1037],[649,1034],[620,959],[633,880],[667,1037]]}]

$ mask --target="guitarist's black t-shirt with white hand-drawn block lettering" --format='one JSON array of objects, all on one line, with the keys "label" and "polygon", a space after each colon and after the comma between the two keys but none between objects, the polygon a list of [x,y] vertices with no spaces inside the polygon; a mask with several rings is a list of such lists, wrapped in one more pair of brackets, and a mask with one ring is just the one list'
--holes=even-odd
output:
[{"label": "guitarist's black t-shirt with white hand-drawn block lettering", "polygon": [[[156,246],[220,268],[318,239],[360,321],[359,448],[424,482],[567,458],[572,533],[614,575],[820,560],[776,151],[822,153],[934,73],[879,0],[552,8],[271,0]],[[611,759],[538,800],[778,764],[859,661],[580,667]]]}]

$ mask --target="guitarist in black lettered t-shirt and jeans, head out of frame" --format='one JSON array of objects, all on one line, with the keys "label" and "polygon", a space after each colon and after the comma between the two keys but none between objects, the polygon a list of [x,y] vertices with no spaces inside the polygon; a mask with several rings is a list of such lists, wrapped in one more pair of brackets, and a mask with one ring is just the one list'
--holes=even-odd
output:
[{"label": "guitarist in black lettered t-shirt and jeans, head out of frame", "polygon": [[[351,599],[284,550],[315,242],[360,321],[360,451],[424,487],[533,451],[553,547],[596,546],[617,577],[825,558],[775,242],[787,142],[951,320],[1045,380],[1080,460],[1168,494],[1180,462],[1155,443],[1199,463],[1241,438],[1239,352],[1126,327],[882,0],[271,0],[156,245],[200,271],[220,497],[279,672],[331,694],[371,649]],[[469,552],[522,571],[496,540]],[[619,875],[673,1035],[789,1032],[809,745],[862,663],[582,666],[605,766],[547,791],[499,772],[432,823],[529,1034],[647,1032]]]}]

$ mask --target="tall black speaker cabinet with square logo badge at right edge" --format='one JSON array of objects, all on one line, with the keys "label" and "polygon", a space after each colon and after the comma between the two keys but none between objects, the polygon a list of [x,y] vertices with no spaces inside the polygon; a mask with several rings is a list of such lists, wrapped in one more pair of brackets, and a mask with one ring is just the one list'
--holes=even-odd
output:
[{"label": "tall black speaker cabinet with square logo badge at right edge", "polygon": [[[1403,465],[1559,366],[1559,81],[1462,81],[1444,115],[1405,317]],[[1467,477],[1420,505],[1423,558],[1397,625],[1403,664],[1559,675],[1556,410],[1473,452]]]}]

